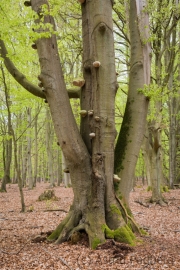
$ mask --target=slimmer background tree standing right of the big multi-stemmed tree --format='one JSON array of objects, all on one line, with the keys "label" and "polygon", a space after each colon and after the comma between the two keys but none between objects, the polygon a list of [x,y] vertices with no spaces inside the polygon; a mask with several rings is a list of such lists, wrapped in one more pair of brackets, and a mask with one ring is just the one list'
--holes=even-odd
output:
[{"label": "slimmer background tree standing right of the big multi-stemmed tree", "polygon": [[[176,27],[178,23],[177,6],[174,1],[149,1],[148,10],[151,15],[151,39],[153,49],[152,82],[149,91],[151,98],[151,116],[148,121],[146,144],[146,170],[151,178],[151,201],[162,204],[161,185],[164,184],[163,144],[162,136],[165,130],[164,111],[167,107],[167,91],[172,81],[176,54]],[[169,14],[171,14],[169,16]],[[172,88],[172,87],[171,87]],[[170,90],[171,91],[171,90]],[[170,126],[170,134],[173,128]],[[170,138],[169,138],[170,139]],[[171,140],[169,140],[170,142]],[[171,147],[170,147],[171,149]],[[171,160],[172,155],[170,155]],[[170,162],[171,164],[171,162]],[[171,168],[170,168],[171,171]],[[171,184],[172,186],[172,184]]]}]

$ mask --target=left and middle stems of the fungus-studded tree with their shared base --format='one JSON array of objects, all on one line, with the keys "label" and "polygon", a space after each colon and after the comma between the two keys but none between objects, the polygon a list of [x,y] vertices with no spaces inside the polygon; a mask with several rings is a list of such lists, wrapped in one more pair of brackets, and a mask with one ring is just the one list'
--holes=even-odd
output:
[{"label": "left and middle stems of the fungus-studded tree with their shared base", "polygon": [[[31,3],[37,13],[42,4],[48,6],[46,0],[32,0]],[[89,236],[90,247],[96,248],[106,236],[132,243],[133,235],[123,219],[113,187],[116,74],[112,3],[109,0],[86,1],[82,4],[82,13],[86,83],[81,104],[84,110],[93,110],[93,115],[88,114],[82,123],[83,139],[70,107],[55,35],[50,38],[40,36],[36,46],[41,66],[39,79],[44,86],[74,191],[74,201],[67,217],[49,240],[56,239],[61,243],[74,231],[83,229]],[[44,23],[54,26],[49,15],[44,16]],[[40,28],[38,31],[42,34],[48,29]],[[95,61],[101,63],[99,68],[93,65]],[[88,132],[83,133],[86,128]],[[107,226],[115,231],[110,231]]]}]

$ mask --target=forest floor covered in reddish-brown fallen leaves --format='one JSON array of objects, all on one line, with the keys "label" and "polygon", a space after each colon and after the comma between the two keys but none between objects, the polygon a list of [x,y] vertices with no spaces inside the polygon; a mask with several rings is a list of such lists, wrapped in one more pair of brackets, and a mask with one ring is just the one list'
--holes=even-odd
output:
[{"label": "forest floor covered in reddish-brown fallen leaves", "polygon": [[[131,192],[131,209],[137,223],[149,236],[128,248],[112,240],[97,250],[88,248],[84,236],[75,245],[48,243],[46,234],[66,216],[73,199],[71,188],[55,187],[57,201],[38,201],[47,183],[33,190],[24,188],[26,213],[20,213],[16,184],[0,193],[0,270],[180,270],[180,189],[164,193],[168,204],[140,205],[151,196],[146,187]],[[53,211],[51,211],[53,210]]]}]

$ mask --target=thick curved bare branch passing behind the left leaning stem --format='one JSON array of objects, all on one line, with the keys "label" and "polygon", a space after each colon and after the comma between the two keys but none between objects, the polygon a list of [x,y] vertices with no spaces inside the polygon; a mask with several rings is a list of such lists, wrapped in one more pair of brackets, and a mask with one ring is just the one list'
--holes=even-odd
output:
[{"label": "thick curved bare branch passing behind the left leaning stem", "polygon": [[[34,96],[46,99],[44,92],[40,87],[28,81],[26,76],[21,73],[14,63],[8,57],[8,52],[3,40],[0,40],[0,56],[4,59],[4,64],[9,71],[9,73],[13,76],[13,78],[23,86],[29,93]],[[79,98],[81,93],[81,88],[70,88],[68,90],[69,98]]]}]

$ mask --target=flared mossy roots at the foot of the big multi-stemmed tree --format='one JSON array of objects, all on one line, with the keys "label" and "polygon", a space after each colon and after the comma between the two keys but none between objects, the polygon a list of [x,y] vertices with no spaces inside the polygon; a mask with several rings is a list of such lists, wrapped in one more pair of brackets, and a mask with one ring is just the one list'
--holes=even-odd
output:
[{"label": "flared mossy roots at the foot of the big multi-stemmed tree", "polygon": [[[116,197],[116,199],[121,206],[121,210],[119,207],[115,209],[116,211],[118,210],[116,217],[118,220],[120,217],[123,220],[124,216],[126,223],[123,220],[122,224],[118,223],[117,228],[111,230],[106,225],[105,213],[103,213],[101,208],[96,206],[93,211],[85,209],[83,212],[76,207],[71,207],[65,219],[57,226],[47,240],[56,241],[56,244],[69,240],[71,243],[77,243],[81,238],[80,232],[85,231],[88,235],[89,246],[92,249],[96,249],[99,245],[104,244],[108,238],[113,238],[123,243],[129,243],[130,245],[134,244],[135,236],[132,231],[136,231],[141,235],[140,228],[127,213],[126,208],[119,198]],[[124,211],[124,214],[121,215],[120,211]],[[128,226],[130,224],[132,229]]]}]

